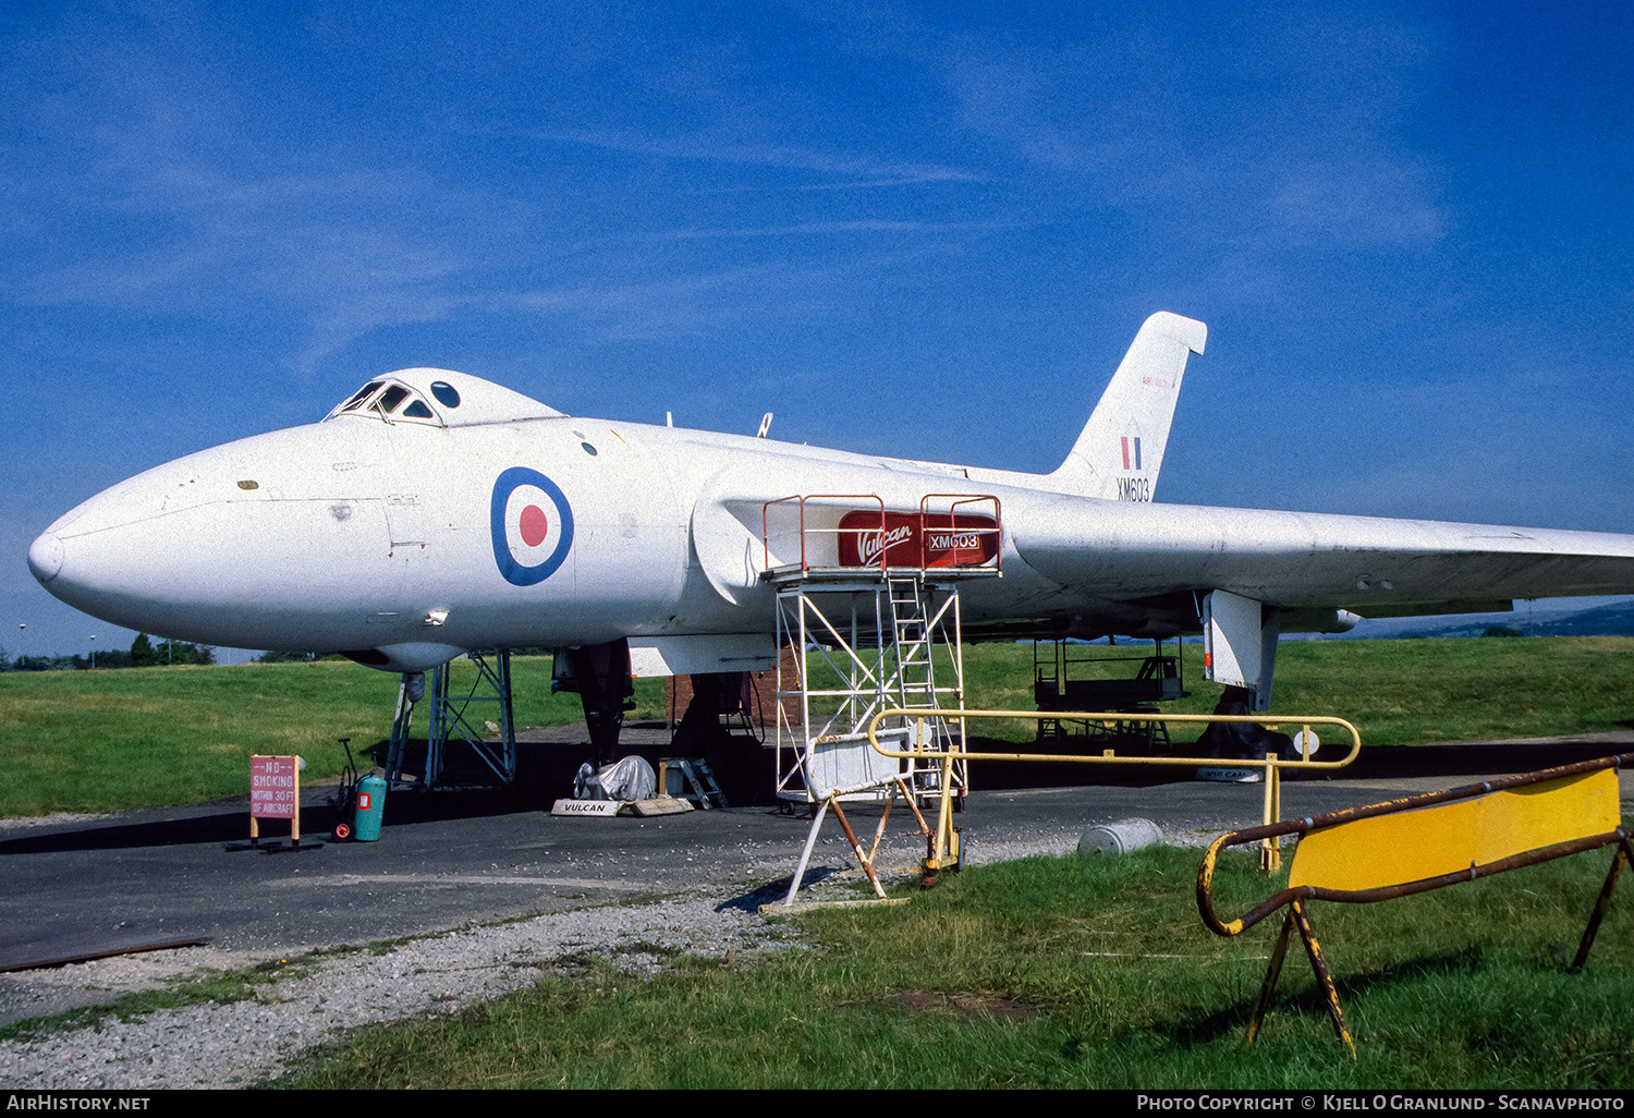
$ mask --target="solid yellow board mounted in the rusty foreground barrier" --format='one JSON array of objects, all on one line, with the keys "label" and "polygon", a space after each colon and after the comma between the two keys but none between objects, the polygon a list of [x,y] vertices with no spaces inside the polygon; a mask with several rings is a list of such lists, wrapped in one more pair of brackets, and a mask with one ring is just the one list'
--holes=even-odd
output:
[{"label": "solid yellow board mounted in the rusty foreground barrier", "polygon": [[1619,822],[1618,775],[1603,768],[1310,830],[1299,840],[1288,884],[1381,889],[1616,830]]}]

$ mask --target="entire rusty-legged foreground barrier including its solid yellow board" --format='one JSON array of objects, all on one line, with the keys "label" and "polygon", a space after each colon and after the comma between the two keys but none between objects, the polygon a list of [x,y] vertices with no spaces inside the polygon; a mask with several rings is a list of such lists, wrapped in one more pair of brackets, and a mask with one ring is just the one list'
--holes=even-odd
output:
[{"label": "entire rusty-legged foreground barrier including its solid yellow board", "polygon": [[[1634,858],[1634,842],[1621,825],[1616,776],[1618,768],[1631,763],[1634,754],[1601,757],[1366,807],[1271,822],[1216,838],[1198,870],[1198,914],[1211,932],[1221,937],[1240,935],[1278,909],[1288,909],[1248,1020],[1245,1043],[1252,1044],[1260,1033],[1283,958],[1297,930],[1333,1030],[1351,1056],[1356,1054],[1333,977],[1310,925],[1307,902],[1391,901],[1616,845],[1611,870],[1572,961],[1572,969],[1580,969],[1588,961],[1588,948],[1593,946],[1601,917],[1611,904],[1618,874]],[[1299,835],[1288,888],[1235,920],[1221,920],[1212,899],[1219,852],[1281,835]]]}]

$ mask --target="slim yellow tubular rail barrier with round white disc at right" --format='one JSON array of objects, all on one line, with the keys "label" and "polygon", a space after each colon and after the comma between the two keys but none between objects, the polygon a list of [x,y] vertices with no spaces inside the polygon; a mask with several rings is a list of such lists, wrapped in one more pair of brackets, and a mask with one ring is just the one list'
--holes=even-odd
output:
[{"label": "slim yellow tubular rail barrier with round white disc at right", "polygon": [[[910,749],[886,749],[879,742],[881,724],[889,718],[900,718],[909,726],[915,726],[912,736]],[[1307,734],[1312,726],[1338,726],[1350,734],[1350,752],[1345,757],[1332,762],[1317,760],[1283,760],[1279,757],[1265,758],[1224,758],[1224,757],[1131,757],[1127,754],[1118,754],[1116,750],[1106,749],[1098,755],[1087,754],[1023,754],[1023,752],[971,752],[966,749],[953,750],[928,750],[920,745],[930,740],[928,726],[925,726],[931,718],[953,721],[964,721],[972,718],[1000,718],[1000,719],[1018,719],[1041,722],[1044,719],[1064,719],[1064,721],[1083,721],[1083,722],[1103,722],[1106,726],[1118,726],[1119,722],[1253,722],[1265,726],[1266,729],[1278,729],[1283,726],[1299,726]],[[966,727],[967,729],[967,727]],[[969,760],[1008,760],[1008,762],[1070,762],[1070,763],[1088,763],[1088,765],[1167,765],[1188,767],[1188,768],[1258,768],[1265,773],[1265,812],[1263,824],[1271,825],[1283,809],[1283,785],[1279,773],[1284,768],[1343,768],[1356,760],[1361,754],[1361,731],[1346,722],[1343,718],[1333,718],[1328,714],[1162,714],[1162,713],[1114,713],[1114,711],[967,711],[967,709],[902,709],[892,708],[881,711],[868,724],[868,744],[874,752],[884,757],[895,757],[904,760],[925,762],[928,757],[936,757],[941,760],[941,809],[938,812],[936,835],[931,842],[930,855],[925,858],[925,876],[933,879],[938,870],[946,870],[954,866],[961,860],[959,853],[959,835],[953,827],[953,796],[949,789],[953,788],[953,767],[958,762]],[[1276,870],[1281,866],[1281,850],[1278,838],[1288,832],[1266,832],[1260,845],[1260,865],[1266,870]]]}]

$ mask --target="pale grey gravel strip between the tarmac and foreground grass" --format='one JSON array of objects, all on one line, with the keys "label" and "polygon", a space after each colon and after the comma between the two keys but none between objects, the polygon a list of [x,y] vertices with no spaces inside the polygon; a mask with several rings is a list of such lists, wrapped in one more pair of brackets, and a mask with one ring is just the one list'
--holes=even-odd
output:
[{"label": "pale grey gravel strip between the tarmac and foreground grass", "polygon": [[[989,845],[979,860],[1067,848],[1070,842],[1054,835]],[[833,873],[802,897],[832,897],[859,879],[859,873]],[[276,1079],[294,1058],[346,1028],[451,1013],[531,986],[544,973],[572,973],[585,955],[631,974],[655,973],[675,951],[752,958],[797,943],[791,923],[768,922],[758,912],[760,904],[783,901],[786,881],[469,927],[384,955],[315,955],[245,1000],[157,1010],[129,1022],[109,1013],[90,1028],[3,1041],[0,1090],[248,1087]],[[134,991],[178,989],[265,961],[253,953],[183,948],[0,974],[0,1015],[21,1020],[106,1005]]]}]

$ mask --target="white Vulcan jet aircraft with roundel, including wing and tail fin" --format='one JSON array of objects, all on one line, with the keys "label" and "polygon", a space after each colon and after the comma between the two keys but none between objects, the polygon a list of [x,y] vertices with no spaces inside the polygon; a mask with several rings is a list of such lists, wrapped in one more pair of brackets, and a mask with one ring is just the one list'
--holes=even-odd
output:
[{"label": "white Vulcan jet aircraft with roundel, including wing and tail fin", "polygon": [[1201,324],[1154,315],[1052,474],[577,418],[405,369],[319,423],[92,497],[34,541],[29,567],[131,629],[405,672],[469,649],[621,639],[678,672],[724,670],[745,647],[770,660],[765,570],[799,564],[802,546],[837,564],[848,512],[907,515],[930,495],[946,508],[949,494],[997,513],[987,562],[1002,577],[962,590],[972,633],[1168,636],[1199,629],[1214,592],[1275,611],[1279,631],[1634,593],[1634,536],[1152,503],[1203,342]]}]

